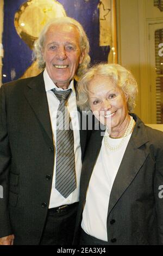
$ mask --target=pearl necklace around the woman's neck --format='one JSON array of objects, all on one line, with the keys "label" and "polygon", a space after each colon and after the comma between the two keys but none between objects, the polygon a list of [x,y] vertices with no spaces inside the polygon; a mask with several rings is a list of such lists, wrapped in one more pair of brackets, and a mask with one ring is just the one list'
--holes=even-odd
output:
[{"label": "pearl necklace around the woman's neck", "polygon": [[127,136],[132,132],[134,126],[135,126],[135,121],[133,119],[133,117],[130,117],[131,120],[130,120],[130,123],[129,123],[129,126],[128,128],[126,129],[126,132],[124,133],[122,139],[121,139],[121,142],[120,144],[118,144],[117,146],[114,146],[112,147],[111,145],[109,145],[109,142],[108,142],[108,137],[109,137],[109,134],[107,132],[107,130],[105,131],[105,135],[104,135],[104,142],[105,142],[105,146],[110,150],[110,151],[116,151],[118,150],[119,148],[122,147],[124,141],[126,140]]}]

